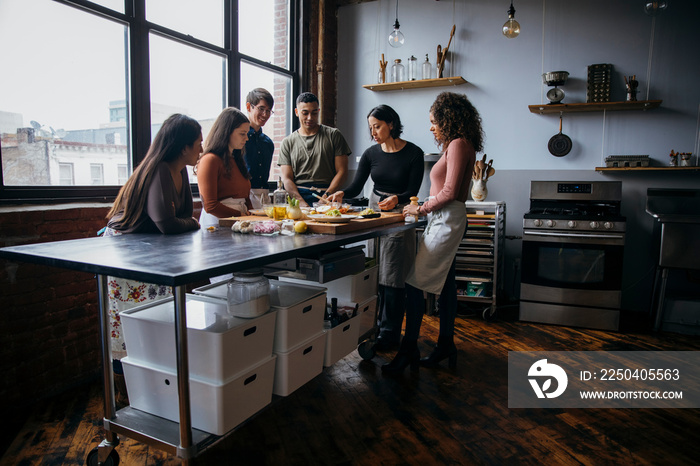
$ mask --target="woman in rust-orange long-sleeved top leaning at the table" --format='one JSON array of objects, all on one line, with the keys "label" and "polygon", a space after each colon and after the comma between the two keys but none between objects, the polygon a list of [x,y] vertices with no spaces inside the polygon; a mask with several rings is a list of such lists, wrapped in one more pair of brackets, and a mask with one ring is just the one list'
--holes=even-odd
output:
[{"label": "woman in rust-orange long-sleeved top leaning at the table", "polygon": [[214,121],[204,144],[204,155],[195,167],[203,228],[216,226],[220,218],[247,215],[250,174],[243,158],[250,121],[234,107],[225,108]]}]

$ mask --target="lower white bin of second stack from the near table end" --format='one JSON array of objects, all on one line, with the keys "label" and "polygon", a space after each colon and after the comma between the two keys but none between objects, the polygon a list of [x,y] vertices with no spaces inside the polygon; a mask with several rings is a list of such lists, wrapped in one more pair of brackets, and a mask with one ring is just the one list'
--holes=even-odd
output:
[{"label": "lower white bin of second stack from the near table end", "polygon": [[287,396],[320,374],[325,347],[326,334],[322,330],[290,351],[275,353],[277,364],[272,393]]}]

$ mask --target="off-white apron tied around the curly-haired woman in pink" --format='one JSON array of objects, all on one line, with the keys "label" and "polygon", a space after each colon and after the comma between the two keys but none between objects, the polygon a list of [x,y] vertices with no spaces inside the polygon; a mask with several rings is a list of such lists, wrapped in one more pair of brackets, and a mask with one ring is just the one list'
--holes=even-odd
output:
[{"label": "off-white apron tied around the curly-haired woman in pink", "polygon": [[428,293],[440,294],[467,227],[464,202],[452,201],[428,214],[428,225],[418,240],[416,261],[406,283]]}]

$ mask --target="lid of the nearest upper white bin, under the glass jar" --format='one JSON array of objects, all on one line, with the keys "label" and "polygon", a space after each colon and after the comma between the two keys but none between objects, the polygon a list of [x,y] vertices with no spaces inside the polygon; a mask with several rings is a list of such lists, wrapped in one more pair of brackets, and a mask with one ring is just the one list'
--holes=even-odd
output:
[{"label": "lid of the nearest upper white bin, under the glass jar", "polygon": [[[225,287],[224,287],[225,288]],[[228,313],[226,303],[205,301],[194,295],[186,295],[187,328],[211,333],[223,333],[239,325],[250,323],[250,319],[234,317]],[[158,323],[175,323],[175,300],[163,299],[145,306],[122,311],[127,318]]]}]

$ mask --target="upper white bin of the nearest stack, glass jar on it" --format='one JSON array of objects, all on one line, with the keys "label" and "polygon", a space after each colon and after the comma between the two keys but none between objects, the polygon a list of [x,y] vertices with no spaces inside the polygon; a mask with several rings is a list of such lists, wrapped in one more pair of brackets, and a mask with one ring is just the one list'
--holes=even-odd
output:
[{"label": "upper white bin of the nearest stack, glass jar on it", "polygon": [[[229,315],[226,303],[189,294],[186,305],[192,376],[222,383],[272,354],[274,311],[254,319],[242,319]],[[131,361],[175,370],[175,303],[172,298],[124,311],[120,316]]]}]

